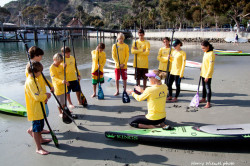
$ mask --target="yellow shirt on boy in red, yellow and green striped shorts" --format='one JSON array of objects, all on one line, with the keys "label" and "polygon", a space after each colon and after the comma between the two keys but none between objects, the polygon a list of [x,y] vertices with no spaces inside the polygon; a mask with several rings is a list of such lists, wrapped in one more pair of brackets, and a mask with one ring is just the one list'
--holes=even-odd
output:
[{"label": "yellow shirt on boy in red, yellow and green striped shorts", "polygon": [[[98,58],[99,58],[99,65],[100,65],[100,71],[103,72],[103,67],[106,63],[106,53],[104,51],[99,52],[97,50],[91,51],[92,55],[92,70],[91,73],[94,73],[96,70],[98,70]],[[99,55],[99,56],[98,56]]]}]

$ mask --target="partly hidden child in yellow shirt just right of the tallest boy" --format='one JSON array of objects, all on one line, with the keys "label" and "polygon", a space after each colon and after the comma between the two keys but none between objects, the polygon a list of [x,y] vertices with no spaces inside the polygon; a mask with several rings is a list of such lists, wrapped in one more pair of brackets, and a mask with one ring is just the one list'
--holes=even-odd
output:
[{"label": "partly hidden child in yellow shirt just right of the tallest boy", "polygon": [[[163,44],[164,47],[161,47],[159,52],[158,52],[158,56],[157,56],[157,60],[159,61],[159,71],[161,72],[166,72],[167,71],[167,66],[168,66],[168,61],[169,61],[169,68],[167,71],[167,81],[169,80],[169,76],[170,76],[170,71],[171,71],[171,54],[170,54],[170,39],[168,37],[165,37],[163,39]],[[171,53],[173,52],[173,49],[171,50]],[[168,85],[168,82],[165,82]]]}]

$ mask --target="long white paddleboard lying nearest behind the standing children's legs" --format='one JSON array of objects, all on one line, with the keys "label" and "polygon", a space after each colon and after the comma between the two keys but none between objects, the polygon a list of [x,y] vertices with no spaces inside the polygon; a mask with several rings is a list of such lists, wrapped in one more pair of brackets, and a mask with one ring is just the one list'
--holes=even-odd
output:
[{"label": "long white paddleboard lying nearest behind the standing children's legs", "polygon": [[[115,80],[115,73],[111,72],[111,73],[104,73],[104,77],[108,78],[108,82],[110,82],[111,80]],[[120,82],[122,81],[122,79],[120,79]],[[165,80],[162,80],[162,83],[164,83]],[[130,85],[136,85],[136,80],[134,75],[127,75],[127,83]],[[147,80],[147,85],[150,85],[150,82]],[[173,89],[176,89],[175,84],[173,84],[172,86]],[[197,92],[198,89],[198,85],[194,85],[194,84],[187,84],[187,83],[181,83],[181,91],[192,91],[192,92]],[[202,86],[200,86],[199,91],[202,91]]]}]

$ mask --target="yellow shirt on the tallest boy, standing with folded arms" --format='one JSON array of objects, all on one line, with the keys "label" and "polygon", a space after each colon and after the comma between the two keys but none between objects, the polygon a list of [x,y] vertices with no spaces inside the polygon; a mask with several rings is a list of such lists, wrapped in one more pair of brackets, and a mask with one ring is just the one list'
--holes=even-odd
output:
[{"label": "yellow shirt on the tallest boy, standing with folded arms", "polygon": [[[135,42],[132,45],[131,53],[137,55],[137,68],[148,68],[148,56],[150,53],[150,43],[147,40],[140,41],[136,40],[136,47],[138,50],[134,49]],[[143,51],[145,50],[145,51]],[[134,67],[136,67],[136,55],[134,55]]]}]

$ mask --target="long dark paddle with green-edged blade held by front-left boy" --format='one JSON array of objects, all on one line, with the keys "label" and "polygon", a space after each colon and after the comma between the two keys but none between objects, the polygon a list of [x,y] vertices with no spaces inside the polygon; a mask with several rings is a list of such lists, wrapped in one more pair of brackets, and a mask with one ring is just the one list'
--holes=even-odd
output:
[{"label": "long dark paddle with green-edged blade held by front-left boy", "polygon": [[[38,88],[38,85],[37,85],[37,82],[36,82],[36,79],[35,79],[35,73],[34,73],[34,71],[33,71],[33,65],[32,65],[32,63],[31,63],[30,54],[29,54],[29,51],[28,51],[28,50],[29,50],[28,45],[27,45],[27,43],[24,41],[23,36],[21,35],[21,33],[19,33],[19,36],[21,37],[21,39],[22,39],[22,41],[23,41],[23,43],[24,43],[24,46],[25,46],[25,48],[26,48],[26,54],[27,54],[27,57],[28,57],[28,60],[29,60],[29,63],[30,63],[30,68],[31,68],[31,71],[32,71],[32,75],[33,75],[33,78],[34,78],[34,82],[35,82],[35,84],[36,84],[37,90],[39,91],[39,88]],[[55,133],[53,132],[53,130],[51,129],[51,127],[50,127],[50,125],[49,125],[49,121],[48,121],[48,119],[47,119],[47,117],[46,117],[46,113],[45,113],[45,110],[44,110],[44,107],[43,107],[43,103],[40,102],[40,105],[41,105],[41,108],[42,108],[44,120],[45,120],[45,122],[46,122],[46,124],[47,124],[47,126],[48,126],[48,128],[49,128],[49,131],[50,131],[52,140],[53,140],[55,146],[56,146],[56,147],[59,147],[58,139],[57,139]]]}]

